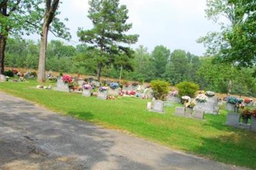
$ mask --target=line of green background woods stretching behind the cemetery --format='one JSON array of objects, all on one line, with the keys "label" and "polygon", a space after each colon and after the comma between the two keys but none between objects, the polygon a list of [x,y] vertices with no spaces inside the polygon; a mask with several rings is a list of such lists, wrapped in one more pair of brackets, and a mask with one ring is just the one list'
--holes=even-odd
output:
[{"label": "line of green background woods stretching behind the cemetery", "polygon": [[[6,66],[38,67],[40,44],[31,40],[8,39]],[[46,69],[60,73],[79,73],[95,76],[97,57],[86,45],[65,45],[51,41],[47,46]],[[116,63],[118,62],[118,63]],[[156,46],[150,53],[140,46],[129,60],[116,60],[102,68],[102,76],[136,81],[166,80],[172,85],[181,81],[193,81],[201,89],[215,92],[256,97],[254,68],[237,69],[222,64],[211,57],[199,57],[184,50],[172,52],[164,46]]]}]

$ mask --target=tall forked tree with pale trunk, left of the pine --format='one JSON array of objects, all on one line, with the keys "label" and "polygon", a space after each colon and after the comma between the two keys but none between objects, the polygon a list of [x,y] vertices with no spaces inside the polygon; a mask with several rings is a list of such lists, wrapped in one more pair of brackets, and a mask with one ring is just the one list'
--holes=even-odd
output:
[{"label": "tall forked tree with pale trunk, left of the pine", "polygon": [[[44,9],[44,22],[42,24],[41,43],[40,43],[40,53],[38,62],[38,81],[45,81],[45,59],[46,59],[46,48],[47,48],[47,36],[48,32],[55,32],[56,36],[61,38],[69,39],[70,34],[67,32],[67,28],[60,22],[56,15],[58,15],[58,5],[60,0],[46,0]],[[50,27],[52,23],[52,27]],[[55,34],[53,33],[53,34]]]}]

